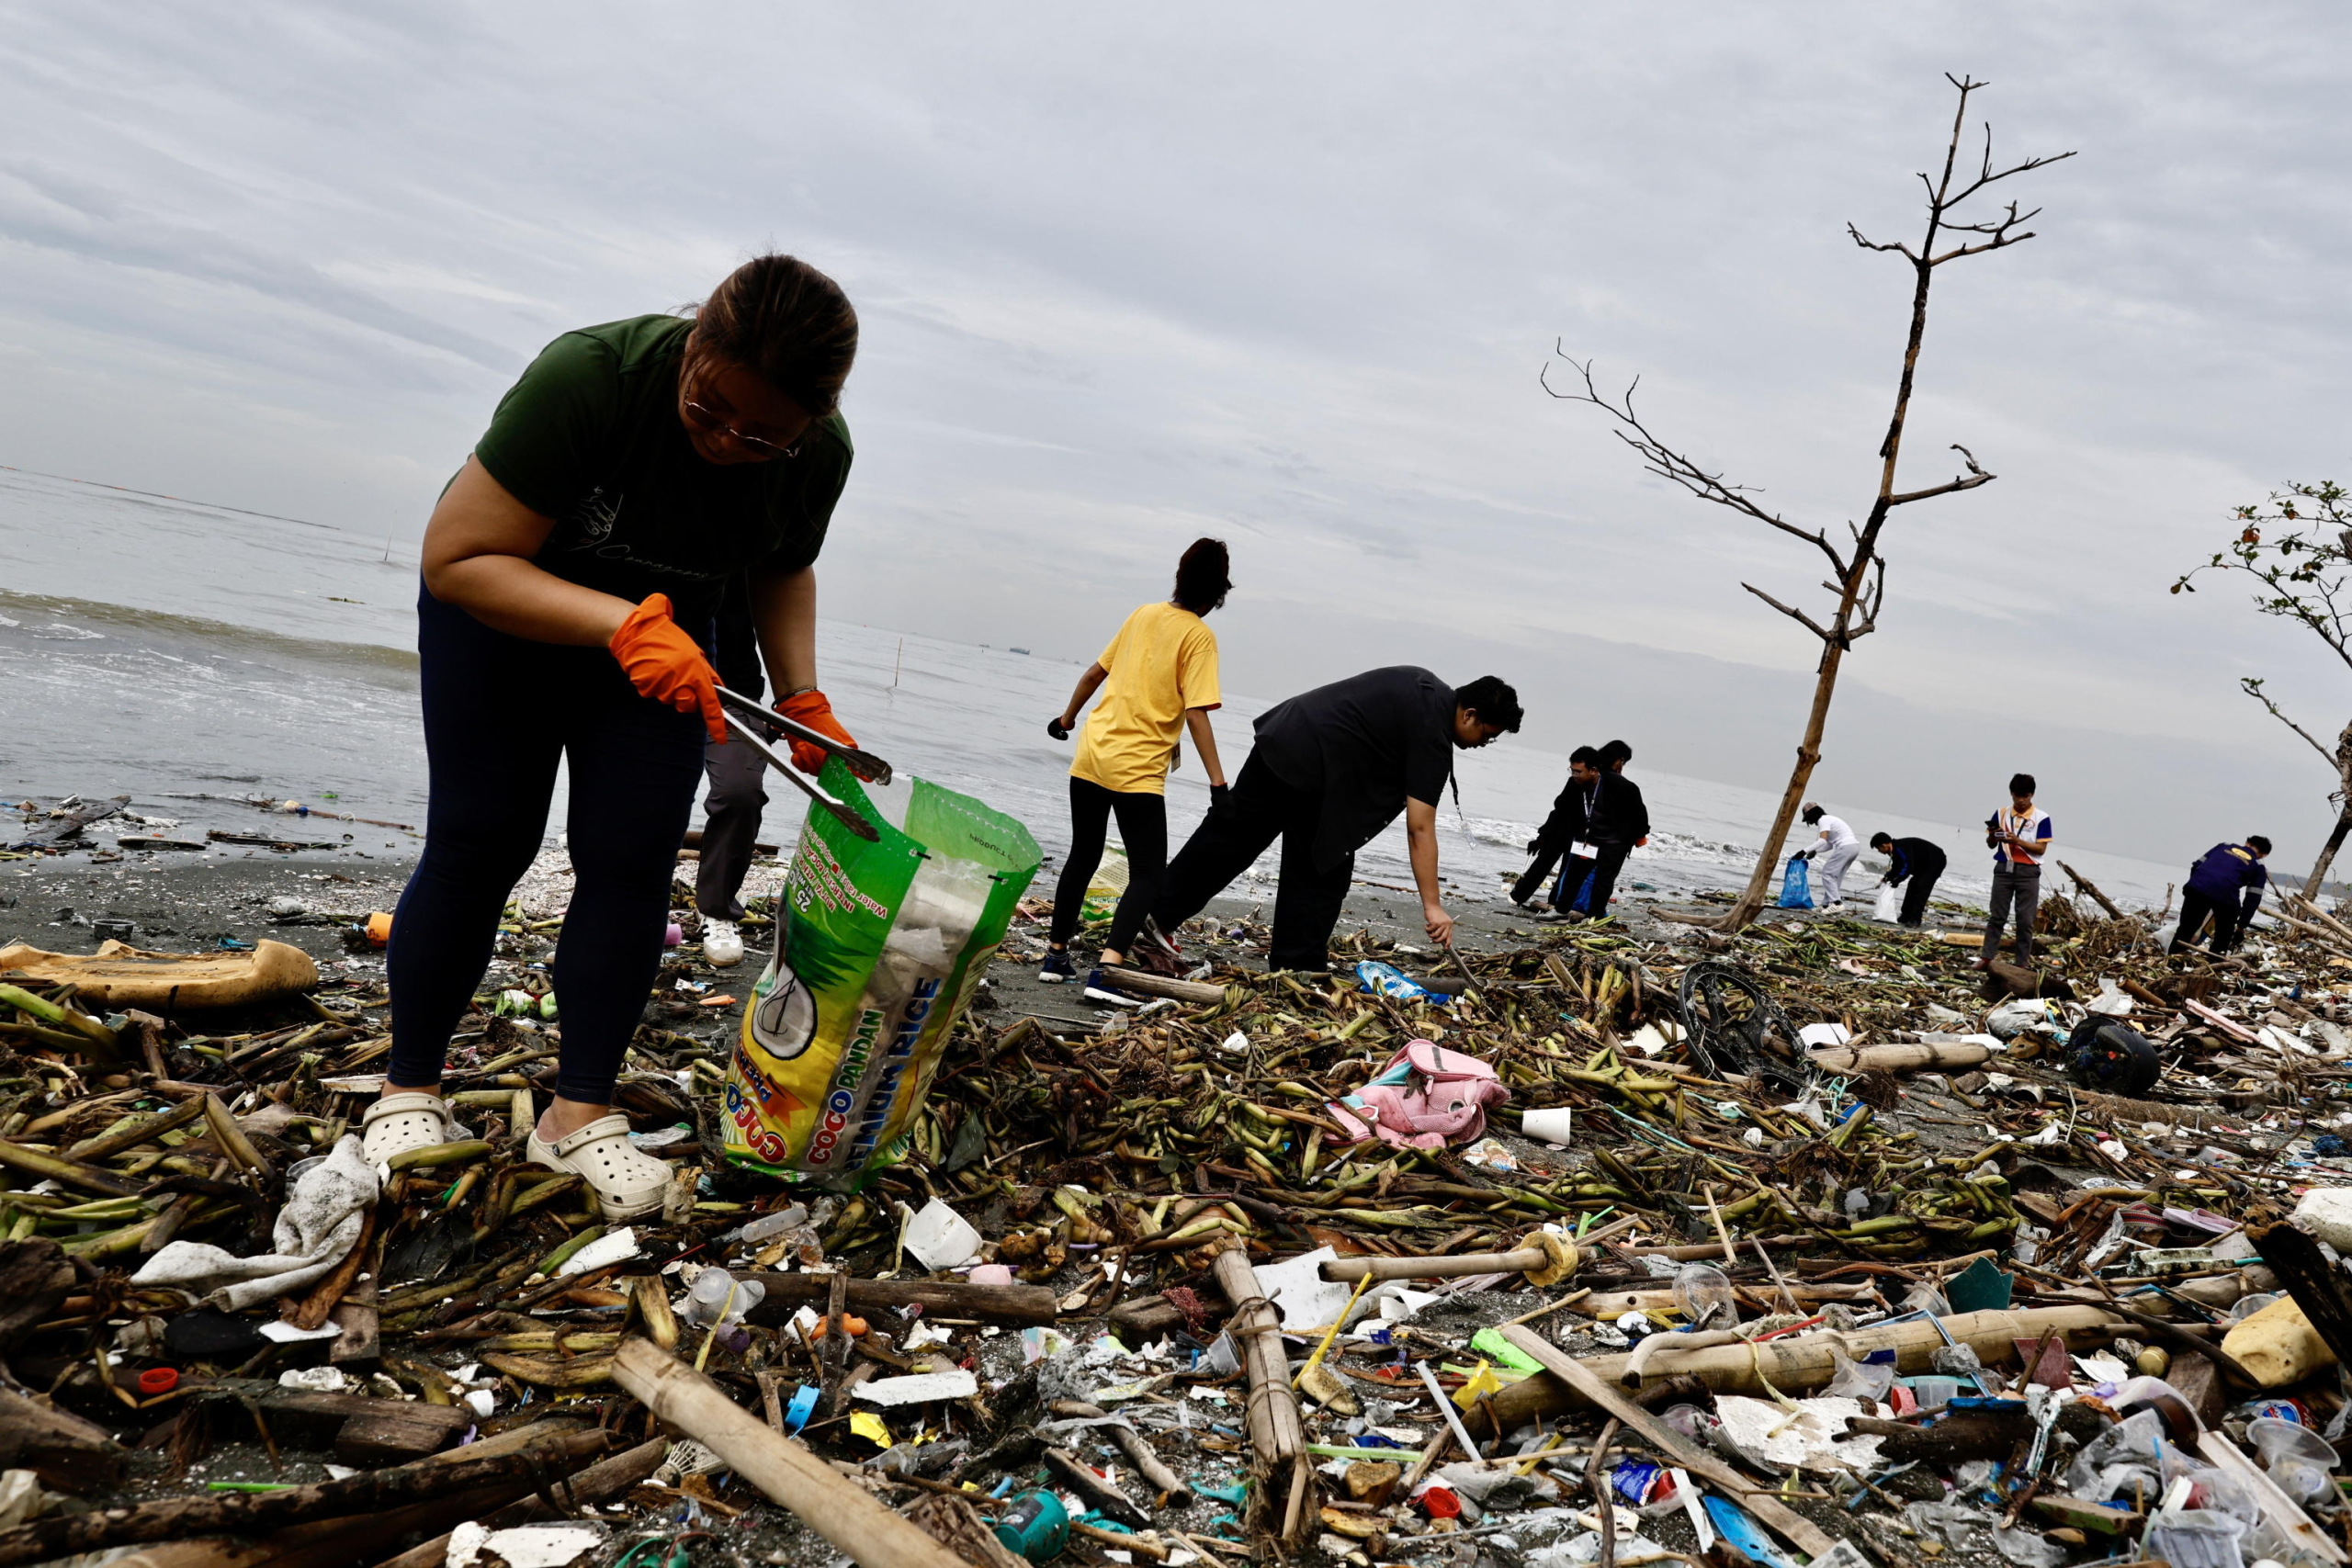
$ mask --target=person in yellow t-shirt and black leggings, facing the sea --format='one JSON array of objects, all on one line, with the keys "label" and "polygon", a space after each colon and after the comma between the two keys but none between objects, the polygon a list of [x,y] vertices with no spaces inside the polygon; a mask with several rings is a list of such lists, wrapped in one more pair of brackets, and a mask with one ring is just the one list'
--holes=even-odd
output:
[{"label": "person in yellow t-shirt and black leggings, facing the sea", "polygon": [[[1192,731],[1192,750],[1209,773],[1211,804],[1225,792],[1225,766],[1216,757],[1209,710],[1221,708],[1216,689],[1216,632],[1202,621],[1232,588],[1225,543],[1197,538],[1176,562],[1174,597],[1143,604],[1127,616],[1103,656],[1087,665],[1070,691],[1070,705],[1047,722],[1047,733],[1068,741],[1077,710],[1098,689],[1103,701],[1087,715],[1070,762],[1070,856],[1054,889],[1054,926],[1047,936],[1040,980],[1058,983],[1077,973],[1070,938],[1087,905],[1087,884],[1103,858],[1103,835],[1120,818],[1127,844],[1127,891],[1110,914],[1103,964],[1122,964],[1127,945],[1152,910],[1169,860],[1167,778],[1181,731]],[[1136,1001],[1087,976],[1087,994],[1101,1001]]]}]

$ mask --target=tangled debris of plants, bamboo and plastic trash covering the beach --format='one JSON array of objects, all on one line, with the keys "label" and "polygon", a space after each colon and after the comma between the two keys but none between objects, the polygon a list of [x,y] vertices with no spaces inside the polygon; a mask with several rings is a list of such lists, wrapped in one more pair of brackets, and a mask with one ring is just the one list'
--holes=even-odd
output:
[{"label": "tangled debris of plants, bamboo and plastic trash covering the beach", "polygon": [[24,966],[0,1566],[2338,1563],[2352,933],[2288,912],[2166,959],[2053,905],[1980,976],[1661,910],[1454,980],[1223,922],[1098,1027],[969,1016],[840,1194],[720,1159],[746,980],[682,912],[621,1088],[677,1175],[621,1227],[522,1159],[548,905],[473,1135],[381,1171],[365,957],[209,1013]]}]

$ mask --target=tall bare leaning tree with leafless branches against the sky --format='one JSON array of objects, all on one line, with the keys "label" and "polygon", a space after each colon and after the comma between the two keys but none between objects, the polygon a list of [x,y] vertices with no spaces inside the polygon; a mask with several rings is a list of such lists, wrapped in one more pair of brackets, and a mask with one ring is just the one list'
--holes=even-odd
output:
[{"label": "tall bare leaning tree with leafless branches against the sky", "polygon": [[[2006,202],[1997,214],[1962,221],[1959,207],[1971,197],[1985,193],[2004,179],[2042,169],[2072,153],[2058,153],[2056,158],[2027,158],[2020,165],[2006,169],[1992,167],[1992,127],[1985,125],[1985,148],[1978,169],[1971,174],[1959,165],[1959,141],[1966,132],[1969,120],[1969,94],[1978,92],[1987,82],[1971,78],[1945,75],[1959,92],[1959,106],[1952,113],[1952,139],[1945,146],[1943,174],[1929,176],[1919,174],[1919,183],[1926,188],[1926,235],[1917,247],[1893,240],[1879,242],[1870,240],[1853,223],[1846,223],[1846,233],[1853,242],[1867,252],[1886,252],[1900,256],[1912,268],[1912,313],[1910,313],[1910,339],[1903,346],[1903,374],[1896,381],[1896,407],[1886,421],[1886,440],[1879,442],[1879,489],[1870,503],[1870,515],[1863,527],[1846,522],[1846,541],[1832,543],[1828,529],[1806,529],[1802,524],[1788,522],[1780,512],[1766,510],[1755,501],[1759,491],[1745,484],[1731,484],[1719,473],[1708,470],[1696,458],[1684,451],[1668,447],[1658,435],[1635,411],[1635,388],[1639,378],[1625,388],[1623,397],[1611,400],[1599,390],[1592,378],[1592,362],[1578,364],[1555,343],[1552,353],[1571,364],[1581,378],[1581,388],[1571,386],[1559,390],[1550,381],[1552,367],[1548,364],[1541,381],[1543,390],[1552,397],[1569,402],[1590,402],[1616,421],[1616,435],[1642,458],[1649,473],[1661,480],[1670,480],[1682,489],[1691,491],[1700,501],[1715,505],[1726,505],[1733,512],[1762,522],[1771,529],[1780,529],[1792,538],[1820,550],[1828,562],[1830,578],[1823,581],[1823,590],[1835,595],[1835,607],[1813,616],[1795,604],[1783,604],[1773,595],[1764,592],[1755,583],[1740,583],[1748,592],[1771,604],[1776,611],[1809,630],[1820,639],[1820,663],[1813,675],[1813,705],[1804,722],[1804,738],[1797,743],[1797,766],[1790,771],[1788,790],[1780,795],[1780,809],[1773,816],[1771,832],[1764,837],[1764,849],[1757,856],[1755,872],[1748,877],[1748,891],[1740,893],[1738,905],[1724,919],[1731,931],[1743,929],[1764,907],[1771,889],[1771,875],[1780,858],[1780,844],[1788,839],[1790,825],[1797,820],[1797,809],[1804,802],[1804,788],[1813,778],[1813,766],[1820,762],[1820,736],[1830,719],[1830,698],[1837,691],[1837,672],[1846,654],[1853,651],[1858,637],[1867,637],[1879,625],[1879,609],[1886,604],[1886,559],[1879,555],[1879,534],[1886,520],[1898,505],[1910,505],[1915,501],[1931,501],[1936,496],[1950,496],[1964,489],[1976,489],[1978,484],[1990,484],[1994,475],[1985,473],[1976,456],[1952,444],[1959,454],[1966,473],[1955,475],[1943,484],[1929,484],[1926,489],[1900,491],[1896,489],[1896,458],[1903,451],[1903,421],[1910,416],[1912,381],[1919,374],[1919,343],[1926,339],[1926,294],[1936,277],[1936,268],[1964,256],[1983,256],[1985,252],[2006,249],[2011,244],[2023,244],[2032,240],[2032,230],[2023,228],[2042,209],[2018,212],[2016,202]],[[1973,235],[1973,237],[1971,237]],[[1943,249],[1938,249],[1943,247]]]}]

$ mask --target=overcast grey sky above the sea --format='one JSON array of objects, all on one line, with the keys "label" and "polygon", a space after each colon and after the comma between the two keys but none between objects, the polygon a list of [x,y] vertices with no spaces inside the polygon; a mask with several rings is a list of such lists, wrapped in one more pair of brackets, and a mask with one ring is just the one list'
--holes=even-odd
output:
[{"label": "overcast grey sky above the sea", "polygon": [[[826,614],[1087,658],[1232,543],[1225,682],[1517,682],[1545,745],[1776,788],[1809,550],[1639,473],[1536,371],[1842,529],[1915,169],[2037,240],[1943,268],[1882,632],[1816,790],[2307,860],[2343,670],[2173,576],[2345,465],[2328,5],[0,5],[0,461],[393,534],[557,331],[790,249],[863,317]],[[2336,110],[2326,108],[2338,103]],[[1976,132],[1971,132],[1973,136]],[[1818,557],[1816,557],[1818,559]],[[5,576],[5,564],[0,564]],[[92,592],[103,597],[103,592]],[[851,715],[854,724],[854,715]]]}]

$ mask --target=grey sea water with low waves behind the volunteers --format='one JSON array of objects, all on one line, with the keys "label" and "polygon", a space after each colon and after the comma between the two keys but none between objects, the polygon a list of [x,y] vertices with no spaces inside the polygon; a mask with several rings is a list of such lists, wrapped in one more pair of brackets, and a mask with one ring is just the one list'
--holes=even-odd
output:
[{"label": "grey sea water with low waves behind the volunteers", "polygon": [[[421,827],[414,604],[414,543],[0,468],[0,795],[129,795],[134,811],[179,820],[176,837],[195,839],[202,827],[249,832],[268,820],[233,804],[249,795]],[[1103,625],[1127,609],[1105,604]],[[1028,637],[1009,623],[1004,642]],[[1044,722],[1068,701],[1077,665],[837,621],[821,623],[816,654],[835,710],[868,750],[1021,818],[1051,856],[1068,844],[1070,745]],[[1225,696],[1216,731],[1232,769],[1249,750],[1249,722],[1282,696]],[[532,722],[532,693],[515,691],[515,733]],[[1628,741],[1644,748],[1637,733]],[[1745,884],[1776,795],[1639,764],[1632,776],[1656,832],[1621,875],[1621,893]],[[1461,806],[1449,797],[1437,813],[1449,898],[1503,898],[1564,778],[1564,755],[1519,736],[1458,755]],[[195,795],[226,799],[186,799]],[[797,795],[769,780],[769,797],[762,837],[790,844]],[[1197,759],[1169,778],[1167,799],[1169,842],[1181,844],[1209,804]],[[1980,827],[1823,804],[1865,837],[1884,827],[1943,844],[1952,856],[1943,896],[1983,900]],[[562,830],[560,795],[548,830]],[[313,818],[299,830],[315,842],[346,835],[355,853],[416,849],[414,835],[365,823]],[[1797,827],[1790,849],[1809,837]],[[2183,877],[2072,844],[2065,858],[2131,903],[2161,903]],[[1867,865],[1849,893],[1870,891]],[[1049,865],[1042,886],[1051,875]],[[1272,875],[1270,853],[1235,891],[1270,898]],[[1409,891],[1402,823],[1357,856],[1357,877]],[[2046,886],[2063,882],[2051,870]]]}]

